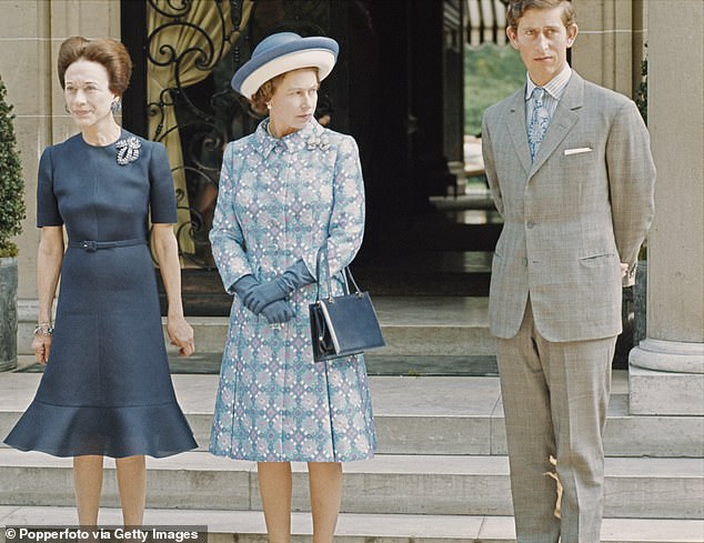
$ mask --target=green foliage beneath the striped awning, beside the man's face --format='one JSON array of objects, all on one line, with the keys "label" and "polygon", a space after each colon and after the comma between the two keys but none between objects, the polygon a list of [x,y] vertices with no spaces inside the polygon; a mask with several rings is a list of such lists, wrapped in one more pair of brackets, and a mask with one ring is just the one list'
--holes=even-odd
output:
[{"label": "green foliage beneath the striped awning, beside the man's face", "polygon": [[521,56],[509,44],[464,50],[464,133],[479,135],[484,110],[525,83]]}]

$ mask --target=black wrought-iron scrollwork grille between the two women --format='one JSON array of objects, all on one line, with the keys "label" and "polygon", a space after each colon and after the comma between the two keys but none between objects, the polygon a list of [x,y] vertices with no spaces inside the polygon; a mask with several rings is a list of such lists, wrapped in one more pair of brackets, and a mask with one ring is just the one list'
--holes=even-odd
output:
[{"label": "black wrought-iron scrollwork grille between the two women", "polygon": [[[179,225],[177,239],[185,265],[203,269],[214,267],[208,234],[218,197],[222,152],[229,141],[253,132],[261,120],[249,102],[230,88],[230,78],[249,60],[252,44],[270,33],[328,34],[334,0],[209,3],[220,19],[217,37],[192,22],[198,7],[194,0],[148,0],[148,7],[163,22],[148,32],[143,48],[148,73],[150,64],[171,67],[174,71],[173,84],[151,97],[147,104],[147,115],[152,119],[149,138],[161,141],[170,132],[179,131],[183,160],[180,164],[172,161],[172,168],[185,177],[185,188],[177,188],[177,203],[181,212],[188,210],[190,221]],[[339,7],[343,6],[344,2],[339,2]],[[191,44],[179,50],[163,39],[163,33],[173,29],[189,32]],[[189,78],[183,73],[187,64],[209,72],[208,77],[188,84]],[[177,118],[175,125],[169,128],[164,123],[167,108],[173,108]]]}]

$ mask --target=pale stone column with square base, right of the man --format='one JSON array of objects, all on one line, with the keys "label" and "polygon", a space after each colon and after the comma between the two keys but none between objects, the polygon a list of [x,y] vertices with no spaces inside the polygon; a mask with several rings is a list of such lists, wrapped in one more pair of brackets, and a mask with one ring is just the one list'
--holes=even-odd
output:
[{"label": "pale stone column with square base, right of the man", "polygon": [[657,167],[647,338],[630,356],[633,414],[704,415],[704,2],[648,1],[648,128]]}]

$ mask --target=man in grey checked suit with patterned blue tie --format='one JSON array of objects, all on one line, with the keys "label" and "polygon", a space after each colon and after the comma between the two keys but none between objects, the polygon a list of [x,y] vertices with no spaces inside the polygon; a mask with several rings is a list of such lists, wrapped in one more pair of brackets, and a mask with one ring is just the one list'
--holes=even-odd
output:
[{"label": "man in grey checked suit with patterned blue tie", "polygon": [[490,323],[516,535],[597,543],[621,289],[652,222],[655,168],[635,104],[567,64],[577,36],[569,1],[512,0],[507,21],[526,86],[486,110],[482,143],[504,218]]}]

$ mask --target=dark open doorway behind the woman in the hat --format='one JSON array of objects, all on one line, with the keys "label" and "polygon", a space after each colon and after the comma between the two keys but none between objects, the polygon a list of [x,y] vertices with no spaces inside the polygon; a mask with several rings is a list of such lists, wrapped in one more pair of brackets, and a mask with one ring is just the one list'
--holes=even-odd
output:
[{"label": "dark open doorway behind the woman in the hat", "polygon": [[[213,6],[221,3],[241,16],[242,0]],[[122,37],[135,60],[123,122],[150,137],[147,4],[122,0]],[[172,94],[190,177],[189,233],[198,249],[191,249],[195,263],[183,270],[187,313],[224,315],[230,306],[208,252],[212,205],[193,203],[202,201],[203,188],[217,194],[220,160],[211,148],[205,164],[202,152],[189,162],[194,142],[203,141],[198,122],[210,122],[203,115],[213,119],[220,140],[253,131],[259,120],[242,109],[225,76],[247,61],[263,37],[281,30],[326,34],[341,46],[321,94],[331,128],[352,134],[360,147],[368,209],[365,241],[353,264],[360,282],[376,295],[485,295],[501,221],[486,194],[475,198],[472,209],[466,194],[455,198],[464,178],[464,0],[258,0],[252,9],[220,68]],[[187,17],[180,13],[173,22]]]}]

